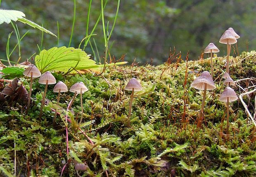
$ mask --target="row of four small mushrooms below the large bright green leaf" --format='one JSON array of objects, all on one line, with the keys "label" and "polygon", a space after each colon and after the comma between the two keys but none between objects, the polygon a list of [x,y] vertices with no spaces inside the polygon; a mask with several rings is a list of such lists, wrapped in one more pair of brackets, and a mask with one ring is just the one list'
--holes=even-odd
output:
[{"label": "row of four small mushrooms below the large bright green leaf", "polygon": [[[43,107],[44,107],[44,104],[45,104],[45,95],[46,95],[46,92],[47,92],[47,86],[48,86],[48,84],[56,84],[56,79],[48,71],[43,73],[43,75],[41,75],[40,71],[38,70],[38,68],[36,68],[35,65],[29,65],[28,68],[26,68],[24,70],[23,75],[25,75],[26,77],[31,77],[29,96],[28,96],[28,105],[27,105],[27,111],[26,112],[28,112],[28,109],[30,107],[31,90],[32,90],[33,78],[34,77],[40,77],[38,82],[40,84],[45,84],[45,91],[44,91],[44,94],[43,94],[43,99],[42,99],[41,109],[40,109],[40,115],[39,115],[39,118],[41,118],[41,116],[43,114]],[[59,105],[60,93],[68,91],[68,88],[67,88],[66,84],[64,84],[62,81],[59,81],[55,85],[53,91],[58,93],[57,105]],[[82,94],[85,93],[86,91],[88,91],[88,89],[87,89],[87,87],[85,86],[85,84],[83,82],[78,82],[76,84],[73,84],[73,86],[71,86],[69,91],[74,93],[72,101],[75,99],[76,95],[80,93],[81,109],[82,109],[81,119],[80,119],[80,123],[79,123],[79,126],[80,126],[80,124],[82,122],[82,119],[83,119],[83,100],[82,100]],[[54,119],[53,119],[53,124],[55,124],[56,116],[57,116],[57,111],[55,112],[55,116],[54,116]]]}]

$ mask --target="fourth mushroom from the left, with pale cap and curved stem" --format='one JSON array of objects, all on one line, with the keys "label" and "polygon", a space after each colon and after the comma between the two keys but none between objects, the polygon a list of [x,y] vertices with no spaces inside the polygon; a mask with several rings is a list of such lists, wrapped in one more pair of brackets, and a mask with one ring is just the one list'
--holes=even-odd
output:
[{"label": "fourth mushroom from the left, with pale cap and curved stem", "polygon": [[[82,94],[85,93],[86,91],[88,91],[87,87],[85,86],[85,84],[83,82],[79,82],[74,84],[73,86],[71,86],[71,88],[69,89],[69,91],[75,93],[73,99],[76,97],[76,93],[80,93],[80,102],[81,102],[81,119],[79,121],[78,124],[78,128],[81,125],[82,119],[83,119],[83,98],[82,98]],[[73,101],[72,99],[72,101]]]}]

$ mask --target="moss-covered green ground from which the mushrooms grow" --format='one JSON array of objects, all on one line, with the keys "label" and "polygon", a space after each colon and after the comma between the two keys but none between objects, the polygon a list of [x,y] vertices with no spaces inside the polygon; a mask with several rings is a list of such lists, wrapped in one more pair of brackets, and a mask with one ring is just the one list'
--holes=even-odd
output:
[{"label": "moss-covered green ground from which the mushrooms grow", "polygon": [[[173,56],[172,56],[173,57]],[[49,85],[43,116],[39,118],[44,85],[34,82],[31,108],[14,97],[0,102],[0,176],[137,176],[137,177],[243,177],[256,176],[256,126],[238,98],[230,103],[229,134],[225,132],[226,104],[219,96],[226,57],[214,57],[213,81],[207,91],[204,120],[197,125],[202,91],[190,86],[209,58],[181,61],[169,58],[159,66],[109,67],[102,76],[92,72],[63,77],[68,88],[83,82],[83,121],[80,94],[66,111],[73,93],[57,94]],[[256,111],[256,52],[230,58],[232,86],[251,116]],[[135,92],[127,126],[131,91],[124,90],[135,77],[143,90]],[[18,78],[29,90],[24,78]],[[0,91],[7,83],[0,82]],[[53,126],[54,109],[57,124]],[[68,115],[66,122],[65,115]],[[68,130],[69,154],[66,147]]]}]

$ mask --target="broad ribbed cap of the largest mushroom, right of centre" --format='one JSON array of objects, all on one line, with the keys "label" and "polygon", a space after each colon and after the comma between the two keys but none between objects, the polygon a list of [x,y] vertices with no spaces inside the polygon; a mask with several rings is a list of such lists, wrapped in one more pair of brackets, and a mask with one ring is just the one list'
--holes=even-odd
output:
[{"label": "broad ribbed cap of the largest mushroom, right of centre", "polygon": [[194,79],[194,81],[191,83],[191,86],[199,90],[204,90],[205,86],[206,90],[216,89],[216,86],[214,85],[213,82],[213,78],[211,77],[208,71],[202,72],[202,74],[199,77]]}]

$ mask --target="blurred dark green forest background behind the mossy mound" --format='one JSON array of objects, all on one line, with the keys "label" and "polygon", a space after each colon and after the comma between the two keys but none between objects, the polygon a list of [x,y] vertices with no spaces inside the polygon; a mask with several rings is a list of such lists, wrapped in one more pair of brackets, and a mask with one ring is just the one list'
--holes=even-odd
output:
[{"label": "blurred dark green forest background behind the mossy mound", "polygon": [[[76,21],[71,47],[78,48],[86,34],[86,21],[89,0],[76,0]],[[104,11],[105,18],[112,26],[116,13],[117,0],[109,0]],[[26,19],[34,21],[57,35],[59,23],[59,46],[68,46],[73,20],[73,0],[2,0],[1,9],[14,9],[24,12]],[[256,2],[255,0],[121,0],[119,16],[109,43],[111,56],[116,59],[126,54],[125,61],[164,63],[170,48],[181,51],[185,59],[198,59],[204,48],[213,42],[220,49],[218,55],[226,55],[226,46],[218,41],[229,27],[241,36],[237,45],[239,53],[254,50],[256,46]],[[100,15],[100,0],[92,0],[90,30]],[[22,36],[22,61],[40,49],[57,46],[57,38],[44,34],[20,22],[16,23]],[[111,29],[111,28],[110,28]],[[8,34],[13,31],[11,24],[0,26],[0,59],[6,59]],[[99,56],[104,56],[104,37],[100,21],[95,30],[97,36],[91,38],[92,47]],[[95,42],[94,42],[95,41]],[[13,33],[11,49],[17,38]],[[85,48],[92,54],[90,45]],[[208,55],[207,55],[208,56]],[[97,56],[96,56],[97,57]],[[18,54],[12,55],[17,61]],[[206,56],[204,57],[206,58]]]}]

